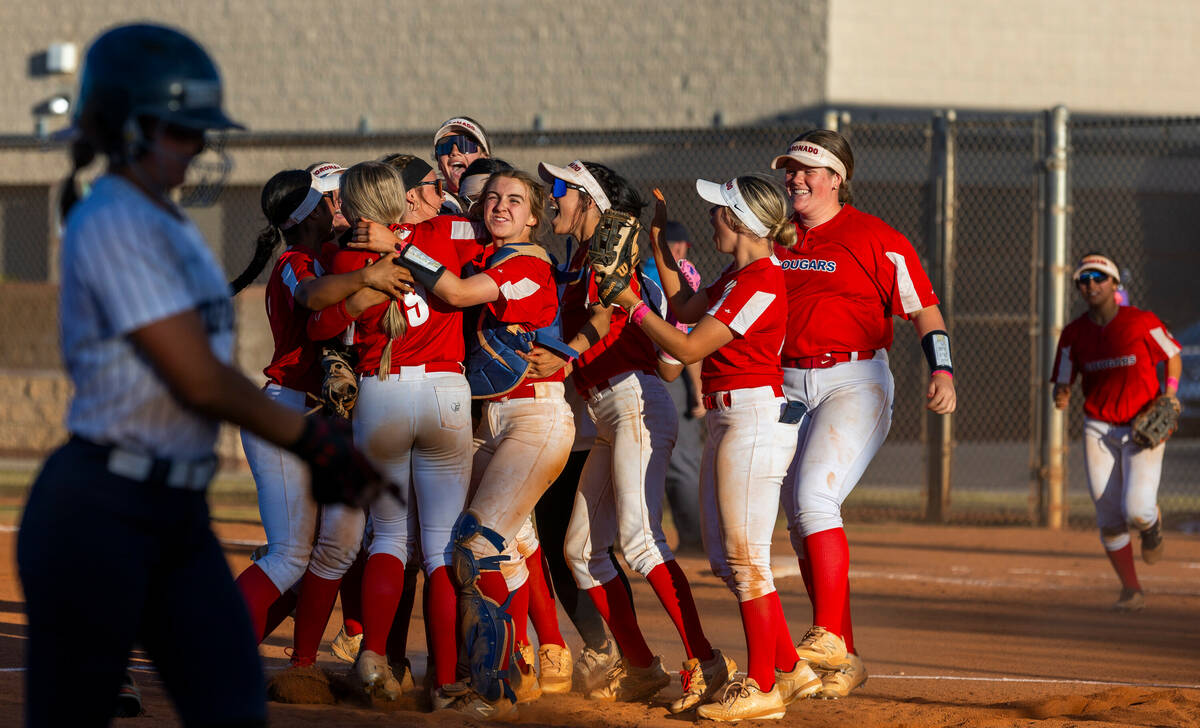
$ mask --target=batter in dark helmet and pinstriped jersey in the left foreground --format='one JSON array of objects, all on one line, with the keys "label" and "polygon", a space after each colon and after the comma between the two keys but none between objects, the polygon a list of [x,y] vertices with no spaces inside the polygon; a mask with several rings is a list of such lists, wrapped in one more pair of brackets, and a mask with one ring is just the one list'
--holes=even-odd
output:
[{"label": "batter in dark helmet and pinstriped jersey in the left foreground", "polygon": [[[229,287],[168,197],[205,130],[236,126],[204,49],[163,26],[112,29],[88,52],[77,109],[64,209],[96,154],[109,174],[73,205],[62,241],[72,437],[34,483],[18,536],[25,720],[107,723],[138,640],[185,723],[265,724],[250,620],[209,527],[218,422],[289,446],[325,479],[322,498],[382,483],[343,431],[274,403],[229,366]],[[79,594],[103,598],[79,608]]]}]

